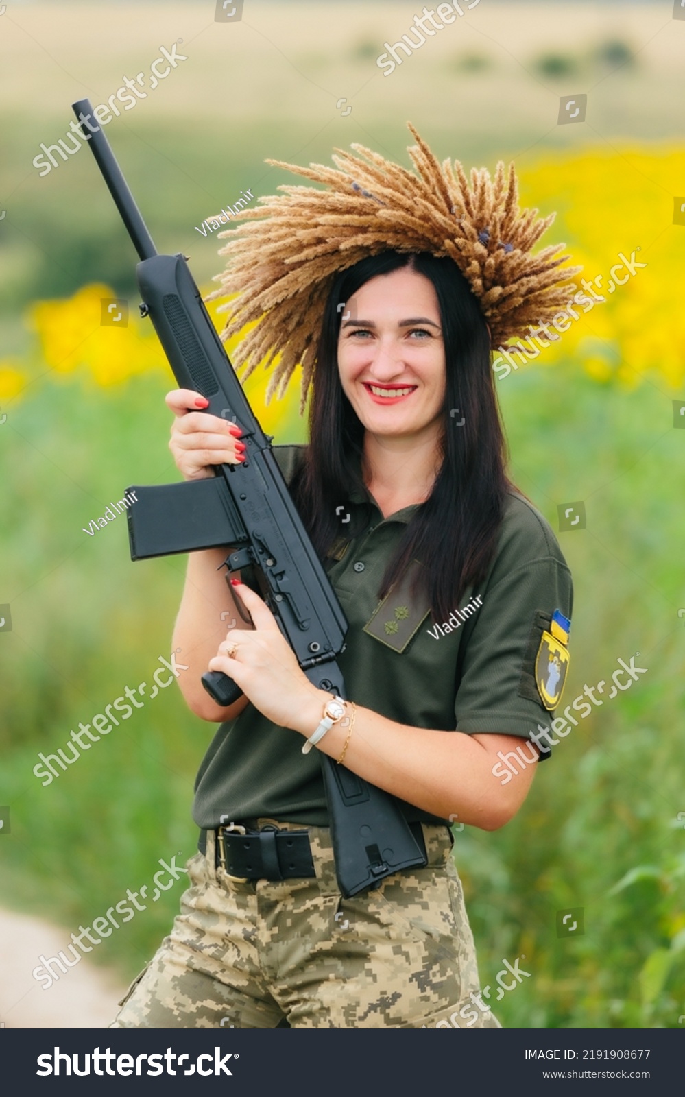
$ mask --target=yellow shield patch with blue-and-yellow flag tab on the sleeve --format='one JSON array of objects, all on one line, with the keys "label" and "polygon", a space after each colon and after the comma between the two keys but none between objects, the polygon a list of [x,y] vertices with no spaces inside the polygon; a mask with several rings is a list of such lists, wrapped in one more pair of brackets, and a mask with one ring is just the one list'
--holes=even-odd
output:
[{"label": "yellow shield patch with blue-and-yellow flag tab on the sleeve", "polygon": [[520,697],[552,712],[561,700],[571,656],[566,644],[571,622],[560,610],[550,617],[537,610],[524,656],[518,687]]}]

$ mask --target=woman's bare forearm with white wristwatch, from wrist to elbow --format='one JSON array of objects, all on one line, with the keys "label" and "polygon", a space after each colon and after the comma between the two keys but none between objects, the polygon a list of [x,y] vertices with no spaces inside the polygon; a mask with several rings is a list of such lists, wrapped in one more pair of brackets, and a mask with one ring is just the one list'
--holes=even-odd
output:
[{"label": "woman's bare forearm with white wristwatch, from wrist to elbow", "polygon": [[[321,690],[316,693],[303,705],[295,728],[306,737],[329,697]],[[334,724],[314,749],[337,761],[348,731]],[[458,816],[460,823],[492,830],[518,811],[535,771],[535,766],[529,767],[506,788],[493,776],[492,748],[496,750],[499,740],[508,738],[408,727],[358,705],[344,765],[423,811],[442,818]]]}]

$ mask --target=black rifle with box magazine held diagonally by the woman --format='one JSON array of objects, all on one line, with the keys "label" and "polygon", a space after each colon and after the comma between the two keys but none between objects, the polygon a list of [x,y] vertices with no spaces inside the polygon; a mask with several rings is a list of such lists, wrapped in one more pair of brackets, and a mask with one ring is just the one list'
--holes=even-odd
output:
[{"label": "black rifle with box magazine held diagonally by the woman", "polygon": [[[72,106],[81,121],[92,115],[88,99]],[[141,314],[151,319],[179,385],[206,397],[206,412],[239,426],[247,445],[244,464],[221,465],[212,478],[134,485],[137,502],[127,512],[131,558],[232,547],[224,562],[226,579],[232,572],[254,568],[259,592],[302,670],[315,686],[344,698],[336,657],[347,621],[276,462],[271,438],[252,414],[184,257],[157,253],[102,127],[85,137],[141,257]],[[204,674],[202,685],[220,705],[242,694],[220,671]],[[328,755],[319,758],[343,895],[400,869],[425,866],[397,800]]]}]

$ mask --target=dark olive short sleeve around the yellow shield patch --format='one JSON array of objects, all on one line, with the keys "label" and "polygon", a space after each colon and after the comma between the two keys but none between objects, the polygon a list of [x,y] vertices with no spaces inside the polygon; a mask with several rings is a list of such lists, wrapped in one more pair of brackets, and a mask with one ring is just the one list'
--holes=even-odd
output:
[{"label": "dark olive short sleeve around the yellow shield patch", "polygon": [[573,585],[550,525],[520,496],[509,496],[498,552],[479,592],[460,654],[457,730],[528,738],[553,717],[535,664],[554,610],[571,619]]}]

